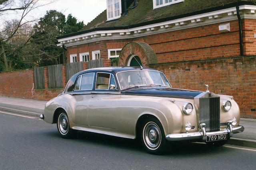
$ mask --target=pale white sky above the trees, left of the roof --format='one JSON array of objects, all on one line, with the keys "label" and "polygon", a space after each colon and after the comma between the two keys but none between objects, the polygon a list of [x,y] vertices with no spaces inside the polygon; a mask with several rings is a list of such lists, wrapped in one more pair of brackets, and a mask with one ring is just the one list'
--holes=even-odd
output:
[{"label": "pale white sky above the trees, left of the roof", "polygon": [[[18,3],[20,0],[14,0],[14,2]],[[44,17],[46,11],[56,10],[62,12],[66,18],[68,17],[68,14],[72,14],[78,21],[84,21],[84,24],[87,24],[106,10],[106,0],[39,0],[38,2],[38,5],[46,5],[30,11],[24,21],[39,19]],[[52,3],[48,4],[48,2]],[[6,20],[19,19],[21,12],[22,10],[15,10],[0,15],[0,27],[4,25]]]}]

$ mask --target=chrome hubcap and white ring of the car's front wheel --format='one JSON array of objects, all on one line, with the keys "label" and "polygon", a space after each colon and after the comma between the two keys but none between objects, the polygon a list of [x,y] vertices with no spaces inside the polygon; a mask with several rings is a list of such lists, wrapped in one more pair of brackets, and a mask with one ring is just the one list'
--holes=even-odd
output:
[{"label": "chrome hubcap and white ring of the car's front wheel", "polygon": [[143,129],[143,140],[148,149],[157,149],[161,143],[161,131],[154,122],[148,122]]}]

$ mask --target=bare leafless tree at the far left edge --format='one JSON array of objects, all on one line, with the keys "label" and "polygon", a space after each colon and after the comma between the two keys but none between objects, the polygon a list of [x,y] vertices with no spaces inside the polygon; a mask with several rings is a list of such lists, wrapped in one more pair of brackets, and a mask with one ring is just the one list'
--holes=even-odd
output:
[{"label": "bare leafless tree at the far left edge", "polygon": [[[4,61],[4,70],[12,70],[12,62],[17,57],[15,53],[7,56],[7,51],[19,51],[24,48],[30,38],[28,29],[30,23],[37,21],[36,19],[26,18],[36,8],[45,4],[40,4],[40,0],[0,0],[0,16],[9,15],[8,12],[17,12],[16,20],[5,20],[4,27],[0,28],[0,57]],[[20,14],[20,15],[18,15]],[[18,44],[18,46],[17,46]],[[16,46],[15,46],[16,45]],[[14,46],[15,49],[14,50]],[[9,53],[10,55],[10,53]]]}]

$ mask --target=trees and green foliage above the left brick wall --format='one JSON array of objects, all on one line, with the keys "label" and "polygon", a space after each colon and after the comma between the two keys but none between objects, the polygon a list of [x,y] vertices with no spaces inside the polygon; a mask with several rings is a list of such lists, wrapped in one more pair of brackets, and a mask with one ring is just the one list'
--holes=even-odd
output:
[{"label": "trees and green foliage above the left brick wall", "polygon": [[[71,14],[66,20],[65,15],[56,10],[47,11],[34,26],[17,23],[20,24],[19,20],[10,20],[6,22],[4,31],[0,30],[0,72],[35,65],[62,64],[65,62],[62,59],[63,49],[57,47],[56,37],[77,32],[84,27],[83,21],[78,22]],[[12,37],[7,41],[5,37],[9,35]],[[4,58],[7,62],[4,62]]]}]

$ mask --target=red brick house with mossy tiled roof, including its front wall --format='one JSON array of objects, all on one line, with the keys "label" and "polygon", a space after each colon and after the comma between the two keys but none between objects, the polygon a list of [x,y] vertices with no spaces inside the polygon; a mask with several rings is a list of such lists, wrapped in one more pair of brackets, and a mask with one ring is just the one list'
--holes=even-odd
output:
[{"label": "red brick house with mossy tiled roof, including its front wall", "polygon": [[164,72],[173,87],[205,91],[209,84],[212,92],[234,96],[243,117],[256,118],[252,0],[106,2],[106,10],[82,30],[57,37],[67,62],[139,62]]}]

